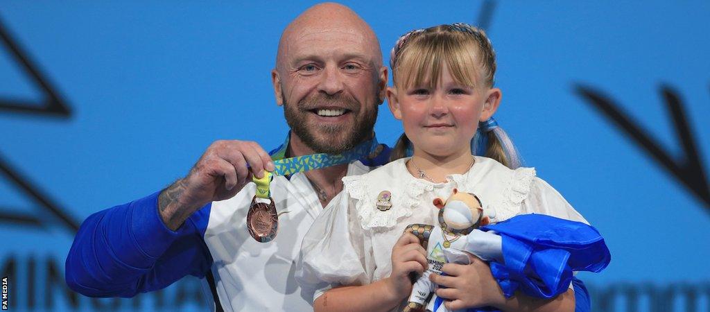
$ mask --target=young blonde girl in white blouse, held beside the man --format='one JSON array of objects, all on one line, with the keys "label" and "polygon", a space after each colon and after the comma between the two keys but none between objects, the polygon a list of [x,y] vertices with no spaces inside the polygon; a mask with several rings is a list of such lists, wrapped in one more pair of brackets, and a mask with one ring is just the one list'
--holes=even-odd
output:
[{"label": "young blonde girl in white blouse, held beside the man", "polygon": [[[413,223],[436,225],[439,211],[430,203],[454,188],[474,193],[493,223],[528,213],[586,222],[535,169],[518,168],[510,141],[493,130],[502,93],[493,87],[495,53],[483,31],[461,23],[411,31],[393,48],[391,68],[388,105],[405,134],[391,163],[343,178],[340,205],[321,213],[303,240],[296,276],[315,311],[401,308],[412,291],[410,273],[427,269],[419,240],[402,233]],[[490,158],[472,153],[483,146]],[[448,287],[437,291],[447,307],[574,310],[571,290],[552,301],[506,298],[488,265],[472,261],[444,265],[449,276],[432,275]]]}]

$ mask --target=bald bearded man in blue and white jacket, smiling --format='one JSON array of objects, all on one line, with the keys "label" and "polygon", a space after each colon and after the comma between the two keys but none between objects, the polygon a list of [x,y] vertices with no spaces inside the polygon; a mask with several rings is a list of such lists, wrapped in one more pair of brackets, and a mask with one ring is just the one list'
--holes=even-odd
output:
[{"label": "bald bearded man in blue and white jacket, smiling", "polygon": [[281,158],[340,154],[372,142],[387,68],[375,34],[359,16],[339,4],[320,4],[283,31],[271,77],[292,130],[285,142],[266,153],[250,141],[215,141],[165,190],[89,216],[67,256],[71,289],[131,297],[190,274],[203,279],[215,311],[312,310],[293,277],[302,237],[342,190],[342,177],[383,164],[389,149],[275,176],[271,197],[280,217],[278,235],[268,243],[256,242],[246,226],[256,194],[252,176],[273,171]]}]

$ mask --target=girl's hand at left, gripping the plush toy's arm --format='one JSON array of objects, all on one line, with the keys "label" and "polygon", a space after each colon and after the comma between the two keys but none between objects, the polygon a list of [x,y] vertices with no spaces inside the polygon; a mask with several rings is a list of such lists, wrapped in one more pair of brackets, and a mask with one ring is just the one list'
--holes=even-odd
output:
[{"label": "girl's hand at left, gripping the plush toy's arm", "polygon": [[385,279],[395,298],[405,298],[412,292],[410,272],[423,274],[427,269],[427,251],[412,233],[404,233],[392,247],[392,273]]}]

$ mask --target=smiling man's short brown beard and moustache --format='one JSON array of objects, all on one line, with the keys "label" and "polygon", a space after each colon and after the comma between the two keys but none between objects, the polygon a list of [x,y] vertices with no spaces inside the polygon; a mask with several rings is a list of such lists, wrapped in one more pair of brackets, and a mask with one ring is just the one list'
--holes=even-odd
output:
[{"label": "smiling man's short brown beard and moustache", "polygon": [[[297,104],[288,103],[283,92],[281,98],[283,99],[286,122],[291,131],[316,153],[341,154],[354,148],[357,144],[370,138],[377,120],[378,109],[375,103],[373,103],[374,107],[367,109],[354,98],[342,94],[322,95],[319,93],[313,97],[305,97]],[[308,114],[312,114],[310,109],[324,107],[328,104],[350,111],[348,114],[353,116],[351,129],[348,129],[349,124],[346,123],[309,124],[307,122]]]}]

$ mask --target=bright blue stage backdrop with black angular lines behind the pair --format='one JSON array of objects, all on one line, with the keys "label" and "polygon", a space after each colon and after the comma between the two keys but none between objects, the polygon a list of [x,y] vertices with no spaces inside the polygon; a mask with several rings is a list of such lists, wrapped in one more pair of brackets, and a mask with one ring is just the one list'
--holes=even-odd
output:
[{"label": "bright blue stage backdrop with black angular lines behind the pair", "polygon": [[[708,311],[707,1],[345,4],[371,24],[386,62],[413,28],[488,29],[498,122],[611,249],[603,273],[579,274],[595,310]],[[278,146],[288,128],[270,70],[280,32],[310,5],[0,2],[9,36],[0,41],[0,272],[11,278],[10,311],[204,310],[192,277],[132,300],[72,294],[63,271],[75,227],[185,175],[216,139]],[[378,138],[392,144],[401,131],[381,106]]]}]

